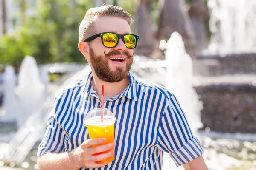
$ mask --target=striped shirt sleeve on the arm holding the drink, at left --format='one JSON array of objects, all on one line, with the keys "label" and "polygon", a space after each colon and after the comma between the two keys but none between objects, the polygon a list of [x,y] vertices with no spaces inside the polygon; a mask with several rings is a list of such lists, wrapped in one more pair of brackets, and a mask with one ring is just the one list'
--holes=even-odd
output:
[{"label": "striped shirt sleeve on the arm holding the drink, at left", "polygon": [[45,153],[61,153],[64,152],[64,137],[65,130],[61,128],[57,121],[57,112],[61,112],[61,94],[56,94],[54,99],[54,108],[49,114],[47,122],[47,130],[42,142],[39,144],[37,156],[42,156]]}]

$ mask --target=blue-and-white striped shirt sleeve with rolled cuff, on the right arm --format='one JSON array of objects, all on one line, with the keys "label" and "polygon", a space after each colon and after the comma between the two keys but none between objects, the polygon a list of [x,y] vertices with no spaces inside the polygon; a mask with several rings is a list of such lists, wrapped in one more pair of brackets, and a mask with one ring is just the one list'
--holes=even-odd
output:
[{"label": "blue-and-white striped shirt sleeve with rolled cuff, on the right arm", "polygon": [[168,100],[160,119],[157,145],[160,150],[170,153],[177,166],[186,164],[203,154],[201,144],[193,136],[175,96]]}]

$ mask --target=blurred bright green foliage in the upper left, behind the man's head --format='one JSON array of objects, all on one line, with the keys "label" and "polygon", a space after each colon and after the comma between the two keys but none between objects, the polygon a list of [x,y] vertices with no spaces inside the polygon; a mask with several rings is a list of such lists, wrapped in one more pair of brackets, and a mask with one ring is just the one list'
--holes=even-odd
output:
[{"label": "blurred bright green foliage in the upper left, behind the man's head", "polygon": [[78,26],[93,0],[36,2],[35,14],[27,16],[23,26],[15,28],[13,35],[0,37],[0,64],[20,65],[26,55],[35,57],[38,64],[86,62],[77,48]]}]

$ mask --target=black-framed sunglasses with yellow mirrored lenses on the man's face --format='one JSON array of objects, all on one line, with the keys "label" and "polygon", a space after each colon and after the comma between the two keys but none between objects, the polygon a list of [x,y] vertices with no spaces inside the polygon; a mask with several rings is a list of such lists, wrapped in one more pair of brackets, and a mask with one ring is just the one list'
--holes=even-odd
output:
[{"label": "black-framed sunglasses with yellow mirrored lenses on the man's face", "polygon": [[134,34],[120,35],[113,32],[102,32],[85,39],[84,42],[90,42],[98,37],[101,37],[102,44],[108,48],[116,47],[120,38],[122,38],[122,41],[125,43],[125,46],[129,49],[133,49],[137,46],[137,42],[139,39],[139,36]]}]

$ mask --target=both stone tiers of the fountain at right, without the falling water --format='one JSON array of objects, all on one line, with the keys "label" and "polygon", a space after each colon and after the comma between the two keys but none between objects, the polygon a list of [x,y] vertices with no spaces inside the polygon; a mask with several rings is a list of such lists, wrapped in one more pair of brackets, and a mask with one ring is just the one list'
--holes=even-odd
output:
[{"label": "both stone tiers of the fountain at right, without the falling water", "polygon": [[256,133],[256,54],[201,57],[194,63],[204,128]]}]

